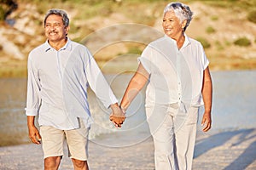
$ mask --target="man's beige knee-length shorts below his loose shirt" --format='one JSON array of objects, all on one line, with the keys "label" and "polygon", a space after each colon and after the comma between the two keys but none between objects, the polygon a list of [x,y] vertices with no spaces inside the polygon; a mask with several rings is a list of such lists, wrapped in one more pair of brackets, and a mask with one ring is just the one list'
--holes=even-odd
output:
[{"label": "man's beige knee-length shorts below his loose shirt", "polygon": [[88,158],[89,128],[80,123],[80,128],[60,130],[55,127],[41,126],[42,146],[44,158],[49,156],[63,156],[63,144],[67,139],[68,156],[77,160],[86,161]]}]

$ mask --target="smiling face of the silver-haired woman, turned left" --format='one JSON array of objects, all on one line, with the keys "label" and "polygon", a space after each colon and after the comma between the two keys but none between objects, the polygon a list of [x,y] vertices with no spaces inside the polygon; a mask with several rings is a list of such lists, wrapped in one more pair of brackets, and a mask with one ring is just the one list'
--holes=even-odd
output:
[{"label": "smiling face of the silver-haired woman, turned left", "polygon": [[171,10],[164,15],[162,26],[167,36],[177,39],[183,33],[183,23],[180,22],[176,14]]}]

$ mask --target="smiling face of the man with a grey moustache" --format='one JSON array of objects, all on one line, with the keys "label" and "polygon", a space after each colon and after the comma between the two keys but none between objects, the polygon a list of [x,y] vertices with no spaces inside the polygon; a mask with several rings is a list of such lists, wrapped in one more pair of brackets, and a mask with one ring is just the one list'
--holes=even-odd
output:
[{"label": "smiling face of the man with a grey moustache", "polygon": [[49,42],[61,42],[66,39],[69,27],[64,26],[62,17],[57,14],[51,14],[45,21],[44,33]]}]

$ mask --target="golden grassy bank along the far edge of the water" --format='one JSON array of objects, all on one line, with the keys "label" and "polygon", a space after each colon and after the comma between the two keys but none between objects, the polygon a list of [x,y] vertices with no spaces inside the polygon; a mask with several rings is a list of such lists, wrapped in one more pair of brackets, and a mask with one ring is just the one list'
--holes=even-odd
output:
[{"label": "golden grassy bank along the far edge of the water", "polygon": [[[219,67],[219,63],[210,60],[209,68],[211,72],[216,71],[256,71],[256,59],[243,59],[243,62],[232,64],[234,59],[227,59],[224,64]],[[119,74],[126,72],[126,74],[134,73],[137,71],[137,58],[123,57],[123,59],[109,59],[108,61],[96,60],[101,68],[103,74]],[[125,62],[125,65],[124,65]],[[253,63],[253,64],[252,64]],[[26,61],[21,61],[20,65],[2,65],[0,63],[0,78],[26,78]],[[120,66],[121,65],[121,66]],[[252,66],[253,65],[253,66]],[[255,64],[256,65],[256,64]]]}]

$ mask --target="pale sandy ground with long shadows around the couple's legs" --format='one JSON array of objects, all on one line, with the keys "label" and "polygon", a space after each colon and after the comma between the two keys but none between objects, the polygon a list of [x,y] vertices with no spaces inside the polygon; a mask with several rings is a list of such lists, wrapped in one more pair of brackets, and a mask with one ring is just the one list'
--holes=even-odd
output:
[{"label": "pale sandy ground with long shadows around the couple's legs", "polygon": [[[111,134],[108,135],[108,138],[112,137]],[[73,169],[67,150],[65,154],[60,169]],[[102,146],[90,141],[89,154],[90,169],[154,170],[154,147],[150,137],[139,144],[121,148]],[[43,169],[41,146],[21,144],[0,147],[0,169]],[[198,132],[193,169],[256,169],[256,128]]]}]

